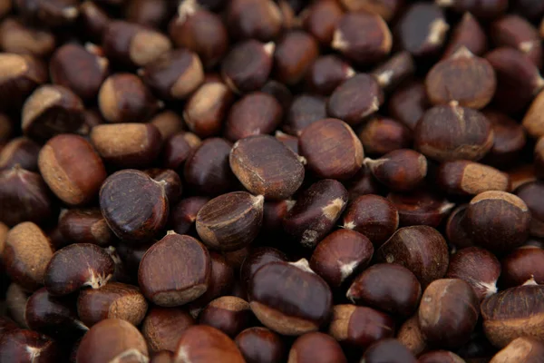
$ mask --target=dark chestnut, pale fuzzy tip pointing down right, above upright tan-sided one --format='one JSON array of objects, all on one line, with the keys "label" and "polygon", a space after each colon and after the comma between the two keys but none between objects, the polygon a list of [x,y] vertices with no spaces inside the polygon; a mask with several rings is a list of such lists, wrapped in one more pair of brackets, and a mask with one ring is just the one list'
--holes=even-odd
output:
[{"label": "dark chestnut, pale fuzzy tip pointing down right, above upright tan-sided one", "polygon": [[481,301],[497,292],[499,276],[500,262],[495,255],[479,247],[467,247],[452,254],[445,277],[465,280]]}]

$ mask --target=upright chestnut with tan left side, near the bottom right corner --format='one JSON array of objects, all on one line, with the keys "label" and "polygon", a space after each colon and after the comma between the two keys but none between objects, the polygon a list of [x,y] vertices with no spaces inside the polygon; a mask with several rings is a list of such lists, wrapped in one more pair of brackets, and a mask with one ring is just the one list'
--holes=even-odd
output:
[{"label": "upright chestnut with tan left side, near the bottom right corner", "polygon": [[466,343],[480,315],[480,301],[468,282],[434,280],[423,291],[419,325],[427,342],[445,348]]}]

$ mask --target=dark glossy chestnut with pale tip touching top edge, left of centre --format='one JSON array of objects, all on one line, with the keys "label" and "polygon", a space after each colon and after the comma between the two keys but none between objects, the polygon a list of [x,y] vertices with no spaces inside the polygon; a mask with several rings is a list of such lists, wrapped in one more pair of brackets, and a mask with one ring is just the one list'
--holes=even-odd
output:
[{"label": "dark glossy chestnut with pale tip touching top edge, left of centre", "polygon": [[201,5],[193,0],[180,2],[169,34],[174,44],[199,54],[204,67],[211,69],[228,51],[228,33],[221,17]]}]

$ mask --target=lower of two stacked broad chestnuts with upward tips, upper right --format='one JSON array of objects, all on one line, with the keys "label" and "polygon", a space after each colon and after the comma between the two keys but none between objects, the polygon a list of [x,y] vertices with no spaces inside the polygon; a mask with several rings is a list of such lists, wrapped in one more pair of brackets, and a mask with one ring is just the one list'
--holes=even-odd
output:
[{"label": "lower of two stacked broad chestnuts with upward tips, upper right", "polygon": [[478,161],[493,146],[493,129],[485,116],[456,101],[434,106],[415,127],[415,149],[439,162]]}]

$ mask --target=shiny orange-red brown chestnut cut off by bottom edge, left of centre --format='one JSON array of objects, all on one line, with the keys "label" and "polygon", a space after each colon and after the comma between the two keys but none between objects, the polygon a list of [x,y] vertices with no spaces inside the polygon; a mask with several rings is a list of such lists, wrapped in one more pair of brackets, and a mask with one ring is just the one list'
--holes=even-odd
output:
[{"label": "shiny orange-red brown chestnut cut off by bottom edge, left of centre", "polygon": [[244,363],[242,353],[228,335],[207,325],[195,325],[181,333],[175,361],[191,363]]}]

